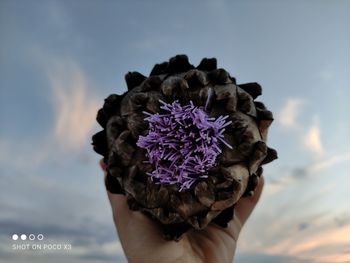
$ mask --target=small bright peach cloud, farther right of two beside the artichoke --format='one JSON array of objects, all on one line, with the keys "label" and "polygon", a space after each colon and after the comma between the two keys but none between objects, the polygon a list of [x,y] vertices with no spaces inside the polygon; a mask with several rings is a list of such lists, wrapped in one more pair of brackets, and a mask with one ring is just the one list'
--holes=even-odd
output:
[{"label": "small bright peach cloud, farther right of two beside the artichoke", "polygon": [[306,131],[303,137],[303,144],[307,150],[321,156],[324,153],[324,148],[321,142],[321,130],[318,118],[314,118],[312,126]]}]

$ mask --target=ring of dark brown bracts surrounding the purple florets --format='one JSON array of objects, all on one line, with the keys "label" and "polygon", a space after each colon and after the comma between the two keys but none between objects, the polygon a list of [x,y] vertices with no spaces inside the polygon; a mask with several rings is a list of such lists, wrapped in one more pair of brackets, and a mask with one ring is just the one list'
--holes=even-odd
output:
[{"label": "ring of dark brown bracts surrounding the purple florets", "polygon": [[[216,59],[203,59],[194,67],[185,55],[178,55],[153,68],[149,77],[138,72],[125,76],[128,91],[112,94],[98,111],[103,130],[93,136],[94,150],[107,164],[106,187],[124,194],[130,209],[142,211],[157,220],[166,239],[178,239],[187,230],[203,229],[209,223],[226,227],[236,202],[252,195],[262,174],[261,165],[277,158],[267,147],[268,127],[273,115],[255,99],[261,95],[258,83],[237,85]],[[209,96],[209,90],[212,96]],[[191,189],[179,192],[178,185],[160,185],[146,173],[154,167],[145,164],[146,152],[136,146],[140,135],[147,135],[143,111],[160,112],[159,100],[180,101],[197,106],[207,103],[211,117],[229,115],[225,140],[217,166],[208,178],[198,180]]]}]

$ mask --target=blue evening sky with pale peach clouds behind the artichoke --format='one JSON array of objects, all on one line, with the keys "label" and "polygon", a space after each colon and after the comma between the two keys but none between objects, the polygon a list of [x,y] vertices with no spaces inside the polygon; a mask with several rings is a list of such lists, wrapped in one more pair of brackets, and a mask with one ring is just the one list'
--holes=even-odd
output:
[{"label": "blue evening sky with pale peach clouds behind the artichoke", "polygon": [[279,159],[235,263],[350,262],[350,1],[1,0],[0,39],[0,262],[126,262],[95,116],[176,54],[260,83],[274,112]]}]

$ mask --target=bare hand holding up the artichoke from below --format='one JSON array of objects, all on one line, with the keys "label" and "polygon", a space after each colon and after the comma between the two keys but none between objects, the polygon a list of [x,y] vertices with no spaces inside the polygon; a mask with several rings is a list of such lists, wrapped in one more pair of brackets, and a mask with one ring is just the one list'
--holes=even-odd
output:
[{"label": "bare hand holding up the artichoke from below", "polygon": [[[101,168],[106,165],[101,161]],[[126,198],[107,191],[113,220],[125,256],[131,263],[232,262],[239,233],[259,201],[264,185],[261,176],[252,197],[241,198],[227,228],[214,224],[202,231],[190,230],[180,241],[165,241],[158,224],[140,212],[131,211]]]}]

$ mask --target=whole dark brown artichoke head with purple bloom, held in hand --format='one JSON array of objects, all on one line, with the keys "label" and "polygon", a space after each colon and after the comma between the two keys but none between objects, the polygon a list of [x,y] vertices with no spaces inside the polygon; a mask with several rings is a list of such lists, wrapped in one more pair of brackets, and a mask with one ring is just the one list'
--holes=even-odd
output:
[{"label": "whole dark brown artichoke head with purple bloom, held in hand", "polygon": [[209,223],[226,227],[236,202],[254,193],[261,165],[277,158],[266,145],[273,115],[255,101],[261,86],[237,85],[215,58],[194,67],[186,55],[125,80],[128,91],[105,99],[103,130],[92,137],[107,190],[158,221],[168,240]]}]

